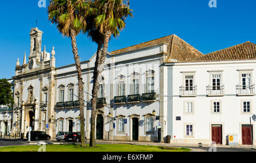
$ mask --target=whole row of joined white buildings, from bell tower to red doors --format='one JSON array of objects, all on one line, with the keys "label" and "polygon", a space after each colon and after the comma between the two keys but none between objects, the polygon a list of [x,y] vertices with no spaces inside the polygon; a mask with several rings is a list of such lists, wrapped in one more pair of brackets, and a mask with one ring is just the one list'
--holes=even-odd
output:
[{"label": "whole row of joined white buildings, from bell tower to red doors", "polygon": [[[42,52],[42,33],[31,29],[29,61],[25,54],[10,80],[15,99],[11,131],[26,134],[31,126],[55,138],[59,131],[80,131],[77,72],[75,64],[55,67],[54,48],[51,56],[46,48]],[[170,35],[108,52],[96,138],[155,141],[160,126],[162,141],[171,135],[172,143],[227,144],[232,135],[237,138],[232,143],[249,144],[250,117],[253,135],[255,129],[255,49],[246,42],[203,55]],[[81,62],[88,139],[95,57]]]}]

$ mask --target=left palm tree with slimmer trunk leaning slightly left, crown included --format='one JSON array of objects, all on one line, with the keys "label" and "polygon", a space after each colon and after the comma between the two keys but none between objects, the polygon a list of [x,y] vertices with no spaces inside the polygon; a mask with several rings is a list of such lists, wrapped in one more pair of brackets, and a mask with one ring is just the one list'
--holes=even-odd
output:
[{"label": "left palm tree with slimmer trunk leaning slightly left, crown included", "polygon": [[51,0],[48,6],[48,19],[57,25],[57,29],[63,36],[71,38],[72,52],[76,62],[76,70],[79,85],[79,109],[81,123],[81,145],[85,143],[85,118],[84,118],[84,87],[82,81],[81,63],[78,54],[76,36],[82,28],[86,27],[84,15],[87,1],[83,0]]}]

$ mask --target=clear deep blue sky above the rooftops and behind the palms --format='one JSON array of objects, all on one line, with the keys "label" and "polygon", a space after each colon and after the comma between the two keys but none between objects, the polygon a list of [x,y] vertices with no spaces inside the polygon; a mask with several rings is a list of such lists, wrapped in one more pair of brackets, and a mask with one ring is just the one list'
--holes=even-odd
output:
[{"label": "clear deep blue sky above the rooftops and behind the palms", "polygon": [[[48,21],[47,8],[39,8],[38,1],[1,2],[0,78],[14,76],[17,58],[22,64],[24,52],[28,57],[29,33],[36,27],[36,20],[38,28],[44,32],[42,47],[46,45],[47,52],[51,52],[55,46],[56,66],[75,62],[71,40],[64,38]],[[134,16],[127,19],[121,35],[112,38],[109,51],[173,33],[204,54],[246,41],[256,43],[255,0],[216,0],[216,8],[210,8],[209,1],[130,0]],[[96,44],[85,35],[77,37],[77,46],[81,61],[88,60],[97,50]]]}]

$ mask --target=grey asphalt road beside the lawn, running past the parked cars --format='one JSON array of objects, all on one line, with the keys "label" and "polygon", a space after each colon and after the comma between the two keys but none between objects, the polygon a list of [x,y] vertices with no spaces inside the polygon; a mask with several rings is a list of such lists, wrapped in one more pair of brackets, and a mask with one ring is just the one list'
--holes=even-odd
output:
[{"label": "grey asphalt road beside the lawn, running past the parked cars", "polygon": [[[73,144],[73,142],[65,142],[65,141],[60,141],[57,142],[56,140],[50,140],[46,141],[48,143],[63,143],[63,144]],[[88,142],[87,142],[88,143]],[[77,143],[79,144],[79,143]],[[109,142],[100,142],[97,144],[109,144]],[[18,145],[29,145],[27,140],[25,139],[3,139],[0,138],[0,147],[6,147],[6,146],[18,146]],[[204,151],[209,151],[209,147],[185,147],[185,148],[193,148],[193,149],[203,149]],[[256,152],[255,149],[250,149],[250,148],[221,148],[217,147],[216,148],[217,152]]]}]

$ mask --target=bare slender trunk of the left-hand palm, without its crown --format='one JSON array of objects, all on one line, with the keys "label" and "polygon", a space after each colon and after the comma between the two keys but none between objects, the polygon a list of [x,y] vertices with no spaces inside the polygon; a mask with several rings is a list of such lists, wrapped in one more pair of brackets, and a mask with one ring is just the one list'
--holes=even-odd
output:
[{"label": "bare slender trunk of the left-hand palm, without its crown", "polygon": [[76,44],[76,35],[75,30],[71,28],[71,43],[72,43],[72,52],[74,54],[74,59],[76,62],[76,70],[78,77],[78,86],[79,86],[79,109],[80,109],[80,124],[81,124],[81,145],[86,147],[85,142],[85,118],[84,118],[84,86],[82,82],[82,71],[81,71],[81,62],[78,54],[77,44]]}]

